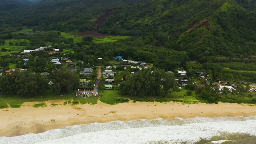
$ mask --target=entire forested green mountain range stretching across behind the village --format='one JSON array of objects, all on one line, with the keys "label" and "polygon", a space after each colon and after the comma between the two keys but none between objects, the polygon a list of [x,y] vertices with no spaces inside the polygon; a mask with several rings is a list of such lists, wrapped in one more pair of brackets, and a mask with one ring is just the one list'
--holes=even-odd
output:
[{"label": "entire forested green mountain range stretching across behind the village", "polygon": [[204,62],[256,54],[255,8],[254,0],[42,0],[0,14],[0,29],[4,34],[27,25],[142,36],[150,45],[186,51]]}]

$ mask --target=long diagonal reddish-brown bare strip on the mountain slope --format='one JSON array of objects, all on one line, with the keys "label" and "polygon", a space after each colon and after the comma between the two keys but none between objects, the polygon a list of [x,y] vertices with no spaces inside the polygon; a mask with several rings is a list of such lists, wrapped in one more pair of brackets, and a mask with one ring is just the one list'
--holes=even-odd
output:
[{"label": "long diagonal reddish-brown bare strip on the mountain slope", "polygon": [[103,11],[104,15],[99,17],[95,22],[92,22],[91,25],[94,26],[94,27],[97,27],[97,29],[100,28],[101,24],[103,22],[105,22],[105,20],[109,16],[111,16],[114,13],[114,11],[116,11],[116,10],[122,10],[122,8],[113,8],[113,9],[110,9],[110,10],[104,10]]}]

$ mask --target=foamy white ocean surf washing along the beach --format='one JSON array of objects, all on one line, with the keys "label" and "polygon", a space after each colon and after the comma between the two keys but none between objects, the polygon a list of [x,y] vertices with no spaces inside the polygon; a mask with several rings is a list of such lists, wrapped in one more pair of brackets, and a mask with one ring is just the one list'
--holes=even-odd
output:
[{"label": "foamy white ocean surf washing along the beach", "polygon": [[256,144],[256,116],[131,120],[0,137],[1,144]]}]

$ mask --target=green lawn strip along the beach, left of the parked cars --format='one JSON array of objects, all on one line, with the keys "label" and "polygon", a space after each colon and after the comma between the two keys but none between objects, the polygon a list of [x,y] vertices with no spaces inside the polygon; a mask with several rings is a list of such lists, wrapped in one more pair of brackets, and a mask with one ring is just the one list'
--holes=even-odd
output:
[{"label": "green lawn strip along the beach, left of the parked cars", "polygon": [[[42,96],[42,97],[41,97]],[[17,96],[17,95],[0,95],[0,108],[10,105],[11,108],[20,108],[24,102],[44,102],[48,100],[71,100],[72,96],[64,94],[63,96],[57,96],[51,90],[48,90],[46,94],[28,97],[28,96]],[[63,101],[64,102],[64,101]]]}]

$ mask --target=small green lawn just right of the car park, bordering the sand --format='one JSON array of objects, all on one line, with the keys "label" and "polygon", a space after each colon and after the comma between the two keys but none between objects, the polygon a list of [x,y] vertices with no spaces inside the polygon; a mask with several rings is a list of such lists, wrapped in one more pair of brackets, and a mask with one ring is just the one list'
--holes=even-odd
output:
[{"label": "small green lawn just right of the car park, bordering the sand", "polygon": [[105,90],[100,101],[110,105],[126,102],[119,90]]}]

